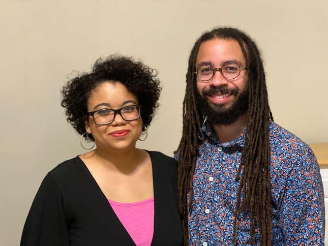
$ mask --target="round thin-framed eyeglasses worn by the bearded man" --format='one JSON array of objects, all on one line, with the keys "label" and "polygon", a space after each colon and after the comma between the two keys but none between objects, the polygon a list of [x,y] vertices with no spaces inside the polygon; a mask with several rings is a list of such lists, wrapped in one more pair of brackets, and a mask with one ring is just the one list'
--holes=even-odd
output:
[{"label": "round thin-framed eyeglasses worn by the bearded man", "polygon": [[238,64],[229,62],[223,64],[222,68],[212,68],[210,64],[200,64],[197,66],[195,73],[200,81],[207,82],[214,77],[217,71],[220,71],[226,79],[235,79],[242,70],[246,70],[246,68],[241,68]]}]

